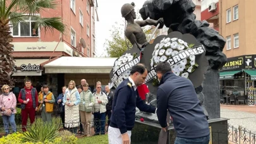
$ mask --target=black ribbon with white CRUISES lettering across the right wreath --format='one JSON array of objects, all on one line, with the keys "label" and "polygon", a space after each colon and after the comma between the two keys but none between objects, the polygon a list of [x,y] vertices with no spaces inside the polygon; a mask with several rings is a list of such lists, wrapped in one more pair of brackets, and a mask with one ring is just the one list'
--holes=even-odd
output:
[{"label": "black ribbon with white CRUISES lettering across the right wreath", "polygon": [[[205,49],[204,49],[204,45],[199,45],[197,47],[192,47],[191,49],[187,49],[183,52],[180,52],[178,54],[176,54],[175,56],[169,58],[167,60],[167,62],[169,64],[171,64],[171,66],[173,66],[174,64],[177,64],[179,63],[180,61],[182,61],[183,59],[186,59],[190,56],[195,56],[195,55],[199,55],[199,54],[203,54],[205,52]],[[152,68],[150,71],[149,71],[149,75],[147,75],[147,78],[146,78],[146,83],[148,81],[150,81],[152,78],[154,78],[156,76],[156,71],[154,68]]]}]

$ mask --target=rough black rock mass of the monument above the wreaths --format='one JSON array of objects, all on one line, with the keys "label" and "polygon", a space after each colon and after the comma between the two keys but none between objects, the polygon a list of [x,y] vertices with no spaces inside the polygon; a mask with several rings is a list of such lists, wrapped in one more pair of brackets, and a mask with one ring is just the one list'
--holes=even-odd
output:
[{"label": "rough black rock mass of the monument above the wreaths", "polygon": [[221,68],[227,61],[222,53],[226,40],[207,21],[195,20],[195,4],[190,0],[151,0],[143,4],[140,15],[143,20],[164,18],[164,25],[169,32],[178,31],[191,33],[206,48],[209,66],[212,69]]}]

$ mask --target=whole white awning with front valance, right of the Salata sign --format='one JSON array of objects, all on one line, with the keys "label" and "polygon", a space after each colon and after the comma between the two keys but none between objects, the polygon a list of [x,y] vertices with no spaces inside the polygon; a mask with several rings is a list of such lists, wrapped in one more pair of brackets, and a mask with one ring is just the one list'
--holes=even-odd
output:
[{"label": "whole white awning with front valance, right of the Salata sign", "polygon": [[113,57],[69,57],[63,56],[44,65],[45,73],[110,73]]}]

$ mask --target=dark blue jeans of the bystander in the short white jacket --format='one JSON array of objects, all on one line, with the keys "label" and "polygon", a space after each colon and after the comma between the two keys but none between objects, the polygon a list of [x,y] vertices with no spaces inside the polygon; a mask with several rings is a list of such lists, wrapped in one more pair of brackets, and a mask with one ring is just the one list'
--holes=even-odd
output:
[{"label": "dark blue jeans of the bystander in the short white jacket", "polygon": [[95,135],[105,135],[106,112],[94,112],[94,131]]}]

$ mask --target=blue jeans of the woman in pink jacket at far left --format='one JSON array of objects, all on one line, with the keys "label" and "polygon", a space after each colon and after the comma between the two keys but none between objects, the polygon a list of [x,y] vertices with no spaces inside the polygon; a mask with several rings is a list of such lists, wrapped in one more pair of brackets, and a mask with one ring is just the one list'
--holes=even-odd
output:
[{"label": "blue jeans of the woman in pink jacket at far left", "polygon": [[16,123],[15,123],[15,114],[11,114],[11,116],[2,116],[4,122],[4,131],[9,134],[9,123],[11,124],[11,128],[13,128],[13,133],[17,132]]}]

